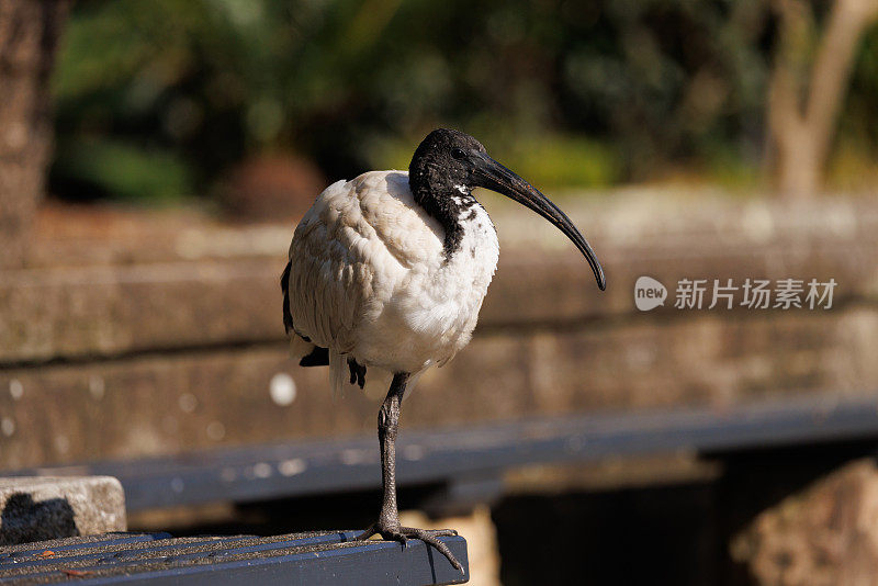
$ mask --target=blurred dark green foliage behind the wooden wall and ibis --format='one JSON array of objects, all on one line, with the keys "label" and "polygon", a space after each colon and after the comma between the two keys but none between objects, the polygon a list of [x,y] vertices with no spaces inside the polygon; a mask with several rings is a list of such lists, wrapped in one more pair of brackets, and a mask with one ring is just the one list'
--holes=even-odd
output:
[{"label": "blurred dark green foliage behind the wooden wall and ibis", "polygon": [[[350,178],[405,168],[439,125],[547,187],[754,168],[773,32],[747,0],[80,0],[52,187],[210,193],[267,151]],[[868,149],[877,89],[871,34],[842,122]]]}]

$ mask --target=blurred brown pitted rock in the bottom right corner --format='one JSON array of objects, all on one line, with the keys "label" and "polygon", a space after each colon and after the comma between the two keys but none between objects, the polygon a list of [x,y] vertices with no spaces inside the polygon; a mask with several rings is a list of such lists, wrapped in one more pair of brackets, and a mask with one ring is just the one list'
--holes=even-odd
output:
[{"label": "blurred brown pitted rock in the bottom right corner", "polygon": [[859,460],[759,514],[731,542],[757,584],[875,584],[878,467]]}]

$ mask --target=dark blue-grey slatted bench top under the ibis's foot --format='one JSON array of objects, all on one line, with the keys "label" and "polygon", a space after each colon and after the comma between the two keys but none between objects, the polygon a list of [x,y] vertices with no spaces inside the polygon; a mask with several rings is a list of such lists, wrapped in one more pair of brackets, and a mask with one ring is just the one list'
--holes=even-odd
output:
[{"label": "dark blue-grey slatted bench top under the ibis's foot", "polygon": [[167,533],[110,533],[0,548],[0,584],[408,585],[469,579],[466,542],[441,538],[463,564],[461,574],[419,540],[347,541],[351,531],[271,538],[171,538]]}]

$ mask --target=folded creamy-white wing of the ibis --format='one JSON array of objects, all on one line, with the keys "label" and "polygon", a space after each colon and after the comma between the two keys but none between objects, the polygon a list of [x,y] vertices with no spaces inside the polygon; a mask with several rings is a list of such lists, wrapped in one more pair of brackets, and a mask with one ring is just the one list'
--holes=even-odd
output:
[{"label": "folded creamy-white wing of the ibis", "polygon": [[353,352],[358,324],[378,318],[425,256],[439,258],[441,228],[427,227],[413,203],[407,174],[386,171],[336,182],[317,198],[290,245],[297,334]]}]

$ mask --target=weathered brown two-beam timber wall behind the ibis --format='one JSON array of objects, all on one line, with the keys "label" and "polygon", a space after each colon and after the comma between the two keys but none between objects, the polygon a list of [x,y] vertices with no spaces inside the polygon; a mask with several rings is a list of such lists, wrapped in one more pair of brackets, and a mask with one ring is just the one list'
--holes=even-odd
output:
[{"label": "weathered brown two-beam timber wall behind the ibis", "polygon": [[[406,428],[878,388],[878,205],[585,206],[604,294],[551,226],[495,215],[504,251],[475,339],[424,377]],[[286,359],[292,228],[190,224],[43,234],[31,269],[0,273],[0,469],[371,432],[373,404],[334,404],[323,369]],[[634,307],[641,274],[668,288],[664,307]],[[684,311],[683,278],[838,286],[830,311]]]}]

